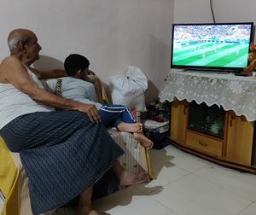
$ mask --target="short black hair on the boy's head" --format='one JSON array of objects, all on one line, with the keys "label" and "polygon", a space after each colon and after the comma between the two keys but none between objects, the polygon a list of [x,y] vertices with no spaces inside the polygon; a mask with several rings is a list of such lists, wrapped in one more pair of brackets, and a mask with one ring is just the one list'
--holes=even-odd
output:
[{"label": "short black hair on the boy's head", "polygon": [[90,61],[83,55],[71,54],[64,61],[65,71],[68,76],[75,76],[79,69],[89,67]]}]

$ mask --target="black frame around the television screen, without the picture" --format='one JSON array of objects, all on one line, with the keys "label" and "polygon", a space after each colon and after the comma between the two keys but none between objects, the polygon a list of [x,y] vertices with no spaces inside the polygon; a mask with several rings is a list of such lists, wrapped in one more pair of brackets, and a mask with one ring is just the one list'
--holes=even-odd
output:
[{"label": "black frame around the television screen, without the picture", "polygon": [[[250,25],[251,26],[251,35],[250,43],[253,42],[253,21],[252,22],[218,22],[218,23],[173,23],[172,24],[172,44],[171,44],[171,68],[183,69],[183,70],[198,70],[198,71],[209,71],[209,72],[234,72],[241,73],[245,67],[207,67],[207,66],[186,66],[186,65],[173,65],[173,37],[174,37],[174,27],[175,26],[218,26],[218,25]],[[249,53],[248,46],[248,53]],[[248,65],[248,61],[247,61]]]}]

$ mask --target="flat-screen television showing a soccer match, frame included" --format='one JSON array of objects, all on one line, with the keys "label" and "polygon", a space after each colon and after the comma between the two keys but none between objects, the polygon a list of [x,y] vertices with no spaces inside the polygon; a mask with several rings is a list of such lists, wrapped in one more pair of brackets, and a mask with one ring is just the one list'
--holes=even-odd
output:
[{"label": "flat-screen television showing a soccer match, frame included", "polygon": [[252,39],[253,22],[173,24],[171,68],[239,73]]}]

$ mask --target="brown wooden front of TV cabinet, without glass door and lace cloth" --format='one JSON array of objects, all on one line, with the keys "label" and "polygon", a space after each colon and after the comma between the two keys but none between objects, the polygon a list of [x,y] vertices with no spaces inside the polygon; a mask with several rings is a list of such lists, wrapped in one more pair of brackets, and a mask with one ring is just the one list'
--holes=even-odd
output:
[{"label": "brown wooden front of TV cabinet, without glass door and lace cloth", "polygon": [[[253,164],[254,122],[232,111],[224,113],[224,137],[188,129],[189,102],[172,102],[170,139],[178,148],[224,166],[256,173]],[[256,148],[256,146],[254,146]],[[254,155],[253,155],[254,154]]]}]

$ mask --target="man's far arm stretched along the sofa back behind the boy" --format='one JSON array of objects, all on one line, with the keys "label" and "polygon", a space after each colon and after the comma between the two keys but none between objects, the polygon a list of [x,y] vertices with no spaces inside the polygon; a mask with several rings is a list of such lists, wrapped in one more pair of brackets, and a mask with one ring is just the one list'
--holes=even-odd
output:
[{"label": "man's far arm stretched along the sofa back behind the boy", "polygon": [[39,79],[67,77],[67,73],[64,69],[54,69],[49,71],[41,71],[33,67],[29,67],[29,69],[35,73]]}]

